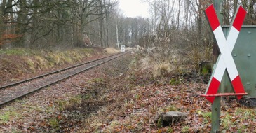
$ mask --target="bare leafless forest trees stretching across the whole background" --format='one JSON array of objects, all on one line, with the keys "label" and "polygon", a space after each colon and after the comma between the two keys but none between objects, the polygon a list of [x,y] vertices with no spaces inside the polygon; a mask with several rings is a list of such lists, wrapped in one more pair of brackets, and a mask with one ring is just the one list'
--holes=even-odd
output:
[{"label": "bare leafless forest trees stretching across the whole background", "polygon": [[[126,18],[117,0],[1,0],[1,48],[101,47],[142,45],[144,38],[168,37],[172,43],[212,45],[203,10],[213,0],[144,0],[150,18]],[[256,1],[222,2],[223,25],[238,5],[255,25]],[[88,41],[88,38],[89,41]]]}]

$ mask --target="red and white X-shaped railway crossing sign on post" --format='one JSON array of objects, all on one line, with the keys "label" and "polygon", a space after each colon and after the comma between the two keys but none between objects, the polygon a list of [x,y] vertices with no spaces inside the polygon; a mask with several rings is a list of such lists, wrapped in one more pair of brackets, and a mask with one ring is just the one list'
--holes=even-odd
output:
[{"label": "red and white X-shaped railway crossing sign on post", "polygon": [[215,67],[215,71],[213,71],[213,74],[210,78],[210,84],[208,85],[208,89],[206,90],[206,94],[204,95],[206,99],[213,103],[215,99],[215,97],[213,96],[217,94],[217,90],[220,87],[220,82],[222,80],[224,71],[227,69],[227,73],[231,80],[231,84],[236,93],[234,95],[237,95],[237,98],[241,99],[241,97],[243,97],[242,94],[245,94],[245,90],[243,88],[243,83],[236,69],[236,64],[231,55],[231,52],[234,48],[236,39],[238,38],[238,34],[243,25],[243,20],[245,19],[246,11],[241,6],[239,6],[236,12],[236,17],[234,18],[232,25],[229,29],[227,39],[224,36],[222,27],[220,26],[220,22],[217,19],[217,15],[215,13],[213,5],[209,6],[205,10],[205,13],[206,17],[208,18],[210,27],[213,30],[213,34],[216,38],[217,45],[220,50],[220,57],[216,62],[217,65]]}]

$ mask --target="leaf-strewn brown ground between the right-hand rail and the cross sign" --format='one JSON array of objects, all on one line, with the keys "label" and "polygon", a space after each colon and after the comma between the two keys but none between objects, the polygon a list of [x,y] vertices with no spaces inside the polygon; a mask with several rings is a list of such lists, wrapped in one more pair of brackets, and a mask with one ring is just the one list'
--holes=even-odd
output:
[{"label": "leaf-strewn brown ground between the right-hand rail and the cross sign", "polygon": [[[210,102],[199,94],[202,81],[170,85],[170,77],[153,78],[130,71],[131,57],[121,58],[42,90],[0,111],[1,132],[209,132]],[[62,106],[63,104],[63,106]],[[68,105],[68,106],[67,106]],[[158,128],[156,113],[182,111],[182,123]],[[255,110],[236,100],[222,100],[222,132],[255,132]],[[3,118],[0,118],[3,119]]]}]

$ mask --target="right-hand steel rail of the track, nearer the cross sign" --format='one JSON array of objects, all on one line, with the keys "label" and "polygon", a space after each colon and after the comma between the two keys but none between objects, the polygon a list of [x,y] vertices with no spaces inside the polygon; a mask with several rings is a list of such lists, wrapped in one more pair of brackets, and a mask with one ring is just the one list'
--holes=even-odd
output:
[{"label": "right-hand steel rail of the track, nearer the cross sign", "polygon": [[[50,85],[54,85],[54,84],[56,84],[56,83],[59,83],[60,81],[65,80],[65,79],[67,79],[67,78],[69,78],[69,77],[75,76],[76,74],[82,73],[83,71],[88,71],[89,69],[93,69],[93,67],[95,67],[95,66],[100,66],[101,64],[105,64],[106,62],[109,62],[109,61],[111,61],[111,60],[113,60],[113,59],[116,59],[116,58],[118,58],[118,57],[121,57],[121,56],[123,56],[123,55],[126,55],[128,52],[130,52],[130,50],[128,50],[127,52],[123,52],[122,54],[121,54],[121,53],[115,54],[115,55],[119,55],[119,54],[120,54],[120,55],[117,56],[117,57],[113,57],[113,58],[111,58],[111,59],[108,59],[108,60],[106,60],[105,62],[100,62],[100,63],[95,64],[95,65],[93,65],[93,66],[90,66],[90,67],[88,67],[88,68],[86,68],[86,69],[83,69],[83,70],[81,70],[81,71],[78,71],[78,72],[76,72],[76,73],[73,73],[73,74],[70,75],[70,76],[65,76],[64,78],[60,78],[60,79],[58,79],[58,80],[55,80],[55,81],[53,81],[53,82],[51,82],[51,83],[48,83],[47,85],[43,85],[43,86],[38,87],[38,88],[36,88],[36,89],[34,89],[34,90],[32,90],[32,91],[26,92],[25,94],[20,94],[20,95],[17,96],[17,97],[13,97],[12,99],[8,99],[8,100],[6,100],[6,101],[4,101],[4,102],[1,102],[1,103],[0,103],[0,106],[3,106],[4,104],[8,104],[8,103],[10,103],[10,102],[13,102],[15,99],[20,99],[20,98],[22,98],[22,97],[25,97],[25,96],[27,96],[28,94],[32,94],[32,93],[34,93],[34,92],[37,92],[37,91],[43,89],[44,87],[48,87],[48,86],[50,86]],[[112,56],[114,56],[114,55],[111,55],[111,56],[108,56],[108,57],[112,57]],[[105,57],[100,58],[100,59],[104,59],[104,58],[105,58]],[[99,60],[99,59],[95,59],[95,60]],[[67,69],[66,69],[66,70],[67,70]],[[49,75],[49,74],[48,74],[48,75]]]}]

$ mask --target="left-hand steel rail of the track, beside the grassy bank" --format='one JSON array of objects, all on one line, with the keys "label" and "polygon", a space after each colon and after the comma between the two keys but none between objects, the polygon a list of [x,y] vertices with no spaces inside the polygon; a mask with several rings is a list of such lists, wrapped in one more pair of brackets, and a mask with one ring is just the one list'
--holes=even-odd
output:
[{"label": "left-hand steel rail of the track, beside the grassy bank", "polygon": [[[107,57],[112,57],[112,56],[115,56],[115,55],[118,55],[118,54],[120,54],[120,53],[117,53],[117,54],[114,54],[114,55],[109,55],[109,56],[107,56]],[[44,73],[44,74],[42,74],[42,75],[40,75],[40,76],[35,76],[35,77],[28,78],[28,79],[25,79],[25,80],[20,80],[20,81],[15,82],[15,83],[10,83],[10,84],[4,85],[4,86],[0,86],[0,89],[4,89],[4,88],[7,88],[7,87],[12,87],[12,86],[15,86],[15,85],[18,85],[18,84],[21,84],[21,83],[26,83],[26,82],[28,82],[28,81],[31,81],[31,80],[34,80],[34,79],[37,79],[37,78],[43,78],[44,76],[49,76],[49,75],[54,74],[54,73],[59,73],[59,72],[61,72],[61,71],[65,71],[65,70],[68,70],[68,69],[73,69],[73,68],[78,67],[78,66],[81,66],[81,65],[83,65],[83,64],[89,64],[89,63],[91,63],[91,62],[96,62],[96,61],[98,61],[98,60],[100,60],[100,59],[105,59],[105,58],[107,58],[107,57],[102,57],[102,58],[99,58],[99,59],[94,59],[94,60],[91,60],[91,61],[89,61],[89,62],[83,62],[83,63],[81,63],[81,64],[76,64],[76,65],[73,65],[73,66],[69,66],[69,67],[66,67],[66,68],[64,68],[64,69],[59,69],[59,70],[57,70],[57,71],[51,71],[51,72],[49,72],[49,73]]]}]

